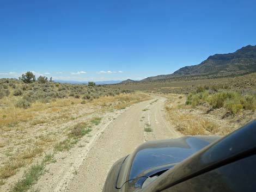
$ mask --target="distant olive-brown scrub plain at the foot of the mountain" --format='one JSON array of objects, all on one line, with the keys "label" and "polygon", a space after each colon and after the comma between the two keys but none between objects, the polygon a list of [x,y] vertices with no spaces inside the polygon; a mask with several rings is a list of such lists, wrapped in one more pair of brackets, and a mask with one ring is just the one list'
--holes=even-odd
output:
[{"label": "distant olive-brown scrub plain at the foot of the mountain", "polygon": [[188,76],[162,80],[152,80],[150,82],[133,82],[123,84],[108,85],[109,88],[120,88],[147,91],[163,94],[190,94],[196,91],[198,86],[211,86],[217,90],[225,89],[231,91],[255,91],[256,73],[233,77],[215,76]]}]

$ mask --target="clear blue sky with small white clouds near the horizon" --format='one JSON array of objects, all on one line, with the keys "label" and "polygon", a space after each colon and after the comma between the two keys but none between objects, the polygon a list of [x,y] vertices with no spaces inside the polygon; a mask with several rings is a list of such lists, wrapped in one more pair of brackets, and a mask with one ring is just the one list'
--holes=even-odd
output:
[{"label": "clear blue sky with small white clouds near the horizon", "polygon": [[0,0],[0,78],[142,79],[256,44],[256,1]]}]

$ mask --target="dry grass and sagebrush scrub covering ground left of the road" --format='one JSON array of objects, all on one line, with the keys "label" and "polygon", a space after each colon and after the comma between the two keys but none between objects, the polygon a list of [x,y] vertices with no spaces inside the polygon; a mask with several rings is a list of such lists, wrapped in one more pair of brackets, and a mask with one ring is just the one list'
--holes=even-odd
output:
[{"label": "dry grass and sagebrush scrub covering ground left of the road", "polygon": [[56,83],[30,75],[19,80],[0,79],[1,190],[9,189],[9,181],[25,169],[25,176],[13,183],[13,191],[27,191],[41,175],[45,163],[36,162],[41,162],[46,152],[54,155],[71,150],[96,133],[93,127],[100,125],[106,112],[150,98],[93,82]]}]

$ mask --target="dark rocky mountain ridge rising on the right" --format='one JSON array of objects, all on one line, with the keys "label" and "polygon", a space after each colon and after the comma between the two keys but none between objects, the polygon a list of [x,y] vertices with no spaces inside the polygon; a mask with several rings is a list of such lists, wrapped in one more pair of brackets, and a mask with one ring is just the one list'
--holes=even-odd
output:
[{"label": "dark rocky mountain ridge rising on the right", "polygon": [[256,46],[248,45],[234,53],[215,54],[198,65],[185,66],[169,75],[142,79],[141,82],[182,76],[231,76],[256,72]]}]

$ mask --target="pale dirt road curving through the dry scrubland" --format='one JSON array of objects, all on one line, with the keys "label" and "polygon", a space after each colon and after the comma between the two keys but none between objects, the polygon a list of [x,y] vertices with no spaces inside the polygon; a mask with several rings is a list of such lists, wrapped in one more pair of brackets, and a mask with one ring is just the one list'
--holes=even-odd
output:
[{"label": "pale dirt road curving through the dry scrubland", "polygon": [[[41,180],[42,184],[39,182],[36,187],[40,191],[102,191],[108,171],[116,160],[131,153],[145,141],[181,136],[166,121],[165,101],[164,97],[153,96],[153,100],[135,104],[117,114],[111,121],[103,122],[87,147],[79,148],[80,151],[75,154],[67,154],[68,158],[72,158],[69,163],[77,164],[76,168],[65,170],[69,169],[66,164],[59,165],[55,170],[64,171],[59,172],[58,179],[48,181],[46,177],[49,175],[46,174]],[[145,132],[145,127],[150,127],[153,131]],[[51,171],[54,174],[54,169]]]}]

